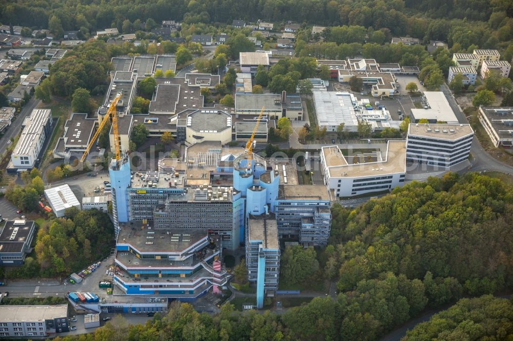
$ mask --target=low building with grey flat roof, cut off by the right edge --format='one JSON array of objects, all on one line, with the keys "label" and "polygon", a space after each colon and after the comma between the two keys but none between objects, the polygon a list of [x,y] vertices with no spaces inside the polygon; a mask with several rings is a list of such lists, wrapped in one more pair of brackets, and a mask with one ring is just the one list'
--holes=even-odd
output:
[{"label": "low building with grey flat roof, cut off by the right edge", "polygon": [[513,106],[480,106],[478,117],[495,147],[513,146]]}]

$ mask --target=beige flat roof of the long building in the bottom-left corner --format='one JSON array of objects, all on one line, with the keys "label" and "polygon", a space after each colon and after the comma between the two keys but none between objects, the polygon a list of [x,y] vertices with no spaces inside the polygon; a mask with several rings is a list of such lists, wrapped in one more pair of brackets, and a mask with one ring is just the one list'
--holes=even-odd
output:
[{"label": "beige flat roof of the long building in the bottom-left corner", "polygon": [[44,322],[68,316],[68,305],[55,306],[0,306],[0,321],[2,322]]}]

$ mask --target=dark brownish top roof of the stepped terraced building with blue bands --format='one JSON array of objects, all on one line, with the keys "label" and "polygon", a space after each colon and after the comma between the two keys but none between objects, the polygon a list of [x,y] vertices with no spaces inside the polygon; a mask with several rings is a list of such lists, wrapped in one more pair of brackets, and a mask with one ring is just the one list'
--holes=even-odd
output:
[{"label": "dark brownish top roof of the stepped terraced building with blue bands", "polygon": [[139,225],[120,229],[117,243],[130,244],[141,252],[180,252],[207,236],[207,229],[142,229]]}]

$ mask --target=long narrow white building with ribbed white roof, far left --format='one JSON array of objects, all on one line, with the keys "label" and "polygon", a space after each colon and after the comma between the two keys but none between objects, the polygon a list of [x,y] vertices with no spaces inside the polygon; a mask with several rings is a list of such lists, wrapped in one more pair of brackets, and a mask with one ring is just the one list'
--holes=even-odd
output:
[{"label": "long narrow white building with ribbed white roof, far left", "polygon": [[34,109],[23,121],[23,131],[11,155],[12,168],[31,169],[51,135],[52,112],[50,109]]}]

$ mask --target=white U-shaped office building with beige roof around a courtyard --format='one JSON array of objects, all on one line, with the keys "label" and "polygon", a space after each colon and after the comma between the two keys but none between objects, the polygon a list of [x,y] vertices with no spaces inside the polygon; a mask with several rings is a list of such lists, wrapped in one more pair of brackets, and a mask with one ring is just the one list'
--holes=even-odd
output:
[{"label": "white U-shaped office building with beige roof around a courtyard", "polygon": [[388,141],[384,155],[373,152],[352,158],[344,157],[338,146],[322,147],[321,165],[332,197],[391,190],[404,183],[406,142]]}]

